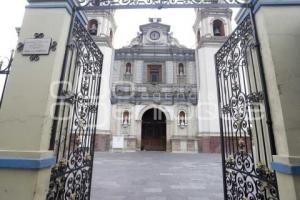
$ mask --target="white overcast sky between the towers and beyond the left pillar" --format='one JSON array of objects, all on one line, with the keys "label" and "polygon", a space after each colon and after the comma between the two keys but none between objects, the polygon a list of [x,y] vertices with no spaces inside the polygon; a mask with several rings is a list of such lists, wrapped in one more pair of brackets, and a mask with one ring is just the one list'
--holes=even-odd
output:
[{"label": "white overcast sky between the towers and beyond the left pillar", "polygon": [[[17,34],[15,27],[22,24],[26,0],[5,1],[0,7],[0,56],[7,56],[16,45]],[[193,23],[195,12],[193,9],[142,9],[118,10],[115,13],[117,32],[115,34],[115,48],[128,45],[139,31],[139,25],[148,23],[149,17],[160,17],[162,23],[171,25],[174,37],[193,48],[195,46]]]}]

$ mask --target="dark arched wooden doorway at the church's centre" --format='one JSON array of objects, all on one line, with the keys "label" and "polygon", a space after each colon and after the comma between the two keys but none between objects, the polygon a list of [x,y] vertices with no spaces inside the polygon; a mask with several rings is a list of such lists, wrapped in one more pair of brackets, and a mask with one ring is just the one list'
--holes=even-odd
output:
[{"label": "dark arched wooden doorway at the church's centre", "polygon": [[142,117],[141,150],[166,151],[166,116],[159,109],[147,110]]}]

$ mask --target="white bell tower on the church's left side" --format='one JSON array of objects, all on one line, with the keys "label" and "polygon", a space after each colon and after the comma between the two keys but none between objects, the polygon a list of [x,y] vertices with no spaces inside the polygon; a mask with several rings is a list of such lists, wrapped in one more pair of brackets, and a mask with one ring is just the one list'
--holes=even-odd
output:
[{"label": "white bell tower on the church's left side", "polygon": [[104,140],[108,140],[111,133],[111,90],[110,78],[112,63],[114,60],[113,41],[116,32],[114,11],[86,11],[88,18],[87,29],[94,41],[103,53],[103,67],[101,77],[100,99],[98,108],[97,134],[95,138],[95,150],[105,151]]}]

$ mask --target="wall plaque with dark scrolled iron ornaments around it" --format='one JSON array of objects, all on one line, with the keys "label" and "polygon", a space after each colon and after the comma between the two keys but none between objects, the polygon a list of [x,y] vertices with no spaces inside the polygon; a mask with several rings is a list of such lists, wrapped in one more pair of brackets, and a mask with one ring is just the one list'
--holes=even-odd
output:
[{"label": "wall plaque with dark scrolled iron ornaments around it", "polygon": [[44,38],[43,33],[35,33],[34,38],[25,39],[24,43],[19,43],[17,50],[24,56],[29,56],[30,61],[38,61],[40,55],[49,55],[50,51],[55,51],[56,41],[51,38]]}]

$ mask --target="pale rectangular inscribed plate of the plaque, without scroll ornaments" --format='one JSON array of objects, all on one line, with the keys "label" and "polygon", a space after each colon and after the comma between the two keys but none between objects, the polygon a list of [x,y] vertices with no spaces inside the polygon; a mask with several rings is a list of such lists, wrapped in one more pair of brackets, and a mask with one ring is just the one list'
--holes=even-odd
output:
[{"label": "pale rectangular inscribed plate of the plaque, without scroll ornaments", "polygon": [[22,55],[48,55],[51,38],[26,39]]}]

